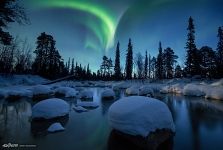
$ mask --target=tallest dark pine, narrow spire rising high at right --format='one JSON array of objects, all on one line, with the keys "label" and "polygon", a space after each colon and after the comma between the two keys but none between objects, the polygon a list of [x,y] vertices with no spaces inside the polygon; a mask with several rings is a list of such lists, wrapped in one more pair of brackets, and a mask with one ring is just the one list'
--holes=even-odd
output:
[{"label": "tallest dark pine, narrow spire rising high at right", "polygon": [[193,23],[192,17],[189,18],[188,21],[188,34],[187,34],[187,42],[186,42],[186,72],[190,76],[199,75],[200,74],[200,58],[199,53],[195,45],[195,27]]}]

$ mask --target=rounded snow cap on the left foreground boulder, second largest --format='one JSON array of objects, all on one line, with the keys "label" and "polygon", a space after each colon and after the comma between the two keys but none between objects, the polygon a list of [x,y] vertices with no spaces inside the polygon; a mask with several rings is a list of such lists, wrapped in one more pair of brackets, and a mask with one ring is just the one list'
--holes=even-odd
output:
[{"label": "rounded snow cap on the left foreground boulder, second largest", "polygon": [[51,98],[36,103],[32,108],[32,118],[51,119],[69,113],[69,104],[62,99]]}]

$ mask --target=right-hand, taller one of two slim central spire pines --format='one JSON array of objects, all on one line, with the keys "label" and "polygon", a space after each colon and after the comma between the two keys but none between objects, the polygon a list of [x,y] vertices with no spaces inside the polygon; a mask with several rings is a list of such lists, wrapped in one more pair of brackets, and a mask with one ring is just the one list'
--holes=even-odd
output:
[{"label": "right-hand, taller one of two slim central spire pines", "polygon": [[126,54],[126,79],[132,79],[132,69],[133,69],[133,50],[132,50],[132,43],[131,39],[129,39],[127,54]]}]

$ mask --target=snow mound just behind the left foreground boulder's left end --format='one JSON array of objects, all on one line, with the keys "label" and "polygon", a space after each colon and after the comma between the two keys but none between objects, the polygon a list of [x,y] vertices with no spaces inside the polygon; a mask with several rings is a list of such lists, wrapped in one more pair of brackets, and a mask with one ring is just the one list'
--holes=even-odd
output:
[{"label": "snow mound just behind the left foreground boulder's left end", "polygon": [[35,85],[30,90],[33,92],[33,95],[51,94],[52,93],[50,86],[47,86],[47,85]]}]

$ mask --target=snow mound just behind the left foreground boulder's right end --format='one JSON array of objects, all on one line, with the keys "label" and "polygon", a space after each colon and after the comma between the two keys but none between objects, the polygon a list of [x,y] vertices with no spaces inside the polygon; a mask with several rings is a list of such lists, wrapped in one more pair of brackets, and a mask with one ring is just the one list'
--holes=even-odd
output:
[{"label": "snow mound just behind the left foreground boulder's right end", "polygon": [[70,87],[58,87],[54,90],[55,93],[64,94],[65,97],[76,97],[77,91]]}]

